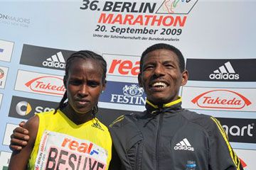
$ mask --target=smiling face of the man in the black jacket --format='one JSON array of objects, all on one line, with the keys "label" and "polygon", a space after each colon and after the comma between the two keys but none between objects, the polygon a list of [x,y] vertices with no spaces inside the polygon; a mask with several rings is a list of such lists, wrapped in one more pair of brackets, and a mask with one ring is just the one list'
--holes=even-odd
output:
[{"label": "smiling face of the man in the black jacket", "polygon": [[175,101],[180,86],[188,80],[188,72],[179,68],[177,55],[171,50],[154,50],[142,63],[138,79],[147,100],[156,105]]}]

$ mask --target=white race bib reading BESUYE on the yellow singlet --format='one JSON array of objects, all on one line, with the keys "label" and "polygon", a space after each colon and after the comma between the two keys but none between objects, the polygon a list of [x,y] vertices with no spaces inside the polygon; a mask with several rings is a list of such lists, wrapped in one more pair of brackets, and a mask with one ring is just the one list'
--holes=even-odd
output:
[{"label": "white race bib reading BESUYE on the yellow singlet", "polygon": [[45,130],[35,169],[101,170],[107,167],[107,150],[88,140]]}]

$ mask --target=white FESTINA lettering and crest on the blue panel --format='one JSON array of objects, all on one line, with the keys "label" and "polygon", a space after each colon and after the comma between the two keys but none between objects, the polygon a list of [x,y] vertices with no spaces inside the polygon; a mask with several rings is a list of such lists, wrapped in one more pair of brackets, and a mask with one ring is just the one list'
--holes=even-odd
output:
[{"label": "white FESTINA lettering and crest on the blue panel", "polygon": [[135,104],[135,105],[146,104],[146,98],[142,96],[144,93],[144,90],[141,87],[137,86],[136,84],[132,84],[131,86],[125,85],[122,91],[123,91],[123,95],[112,94],[110,102]]}]

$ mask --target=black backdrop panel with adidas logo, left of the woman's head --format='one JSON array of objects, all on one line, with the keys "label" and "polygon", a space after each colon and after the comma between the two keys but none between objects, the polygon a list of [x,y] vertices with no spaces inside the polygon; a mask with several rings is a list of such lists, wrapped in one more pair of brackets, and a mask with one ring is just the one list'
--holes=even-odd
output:
[{"label": "black backdrop panel with adidas logo, left of the woman's head", "polygon": [[[20,64],[26,64],[48,69],[65,70],[65,61],[74,51],[60,50],[35,45],[23,45]],[[36,60],[31,60],[36,59]]]}]

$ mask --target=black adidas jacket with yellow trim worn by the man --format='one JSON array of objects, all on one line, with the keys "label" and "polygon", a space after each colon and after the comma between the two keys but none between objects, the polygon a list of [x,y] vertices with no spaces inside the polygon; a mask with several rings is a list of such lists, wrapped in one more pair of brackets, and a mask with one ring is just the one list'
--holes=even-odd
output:
[{"label": "black adidas jacket with yellow trim worn by the man", "polygon": [[188,161],[197,170],[242,169],[218,120],[181,108],[181,99],[163,108],[147,101],[143,113],[114,120],[110,134],[110,169],[184,170]]}]

